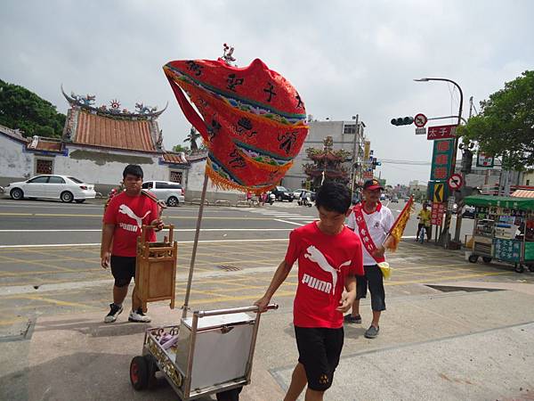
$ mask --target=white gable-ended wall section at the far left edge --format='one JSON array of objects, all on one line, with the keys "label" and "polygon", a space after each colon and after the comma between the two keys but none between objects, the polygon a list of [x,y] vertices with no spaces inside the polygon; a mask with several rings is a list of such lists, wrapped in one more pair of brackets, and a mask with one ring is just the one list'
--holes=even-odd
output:
[{"label": "white gable-ended wall section at the far left edge", "polygon": [[[0,179],[26,178],[33,173],[33,155],[24,151],[25,145],[0,135]],[[8,184],[2,183],[0,184]]]}]

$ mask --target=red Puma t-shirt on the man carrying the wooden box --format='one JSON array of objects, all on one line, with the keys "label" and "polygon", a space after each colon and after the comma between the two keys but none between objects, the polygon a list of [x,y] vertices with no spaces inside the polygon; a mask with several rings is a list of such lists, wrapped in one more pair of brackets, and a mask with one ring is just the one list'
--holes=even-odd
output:
[{"label": "red Puma t-shirt on the man carrying the wooden box", "polygon": [[[109,201],[104,214],[104,224],[115,225],[111,254],[123,257],[136,256],[137,237],[141,226],[150,225],[158,218],[158,205],[144,195],[129,196],[126,192],[115,195]],[[149,230],[147,240],[156,241],[156,233]]]}]

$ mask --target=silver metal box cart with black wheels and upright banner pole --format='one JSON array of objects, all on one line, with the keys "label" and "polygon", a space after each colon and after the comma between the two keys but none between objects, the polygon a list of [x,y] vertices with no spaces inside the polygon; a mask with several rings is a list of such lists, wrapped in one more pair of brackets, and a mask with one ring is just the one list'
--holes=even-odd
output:
[{"label": "silver metal box cart with black wheels and upright banner pole", "polygon": [[135,356],[130,364],[130,381],[134,389],[148,389],[160,371],[182,401],[212,394],[218,400],[237,401],[240,389],[250,383],[261,316],[258,307],[195,311],[188,317],[207,179],[205,176],[182,319],[179,325],[145,332],[142,356]]}]

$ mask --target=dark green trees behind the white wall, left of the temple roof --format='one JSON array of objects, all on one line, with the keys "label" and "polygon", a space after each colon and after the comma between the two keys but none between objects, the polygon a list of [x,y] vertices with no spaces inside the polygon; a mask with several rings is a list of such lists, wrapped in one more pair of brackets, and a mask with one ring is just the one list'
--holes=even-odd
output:
[{"label": "dark green trees behind the white wall, left of the temple roof", "polygon": [[66,116],[23,86],[0,79],[0,125],[19,128],[24,136],[61,137]]}]

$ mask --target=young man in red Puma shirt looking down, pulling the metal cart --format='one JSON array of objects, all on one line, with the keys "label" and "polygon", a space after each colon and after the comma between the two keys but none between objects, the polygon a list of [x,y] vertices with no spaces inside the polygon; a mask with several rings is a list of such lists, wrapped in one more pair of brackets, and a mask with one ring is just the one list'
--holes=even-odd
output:
[{"label": "young man in red Puma shirt looking down, pulling the metal cart", "polygon": [[322,400],[332,385],[343,348],[343,314],[356,299],[355,275],[363,274],[360,239],[344,226],[351,212],[347,187],[322,185],[315,205],[320,220],[290,233],[286,258],[265,295],[255,302],[264,311],[298,260],[293,323],[299,358],[285,401],[295,401],[306,383],[306,401]]}]

